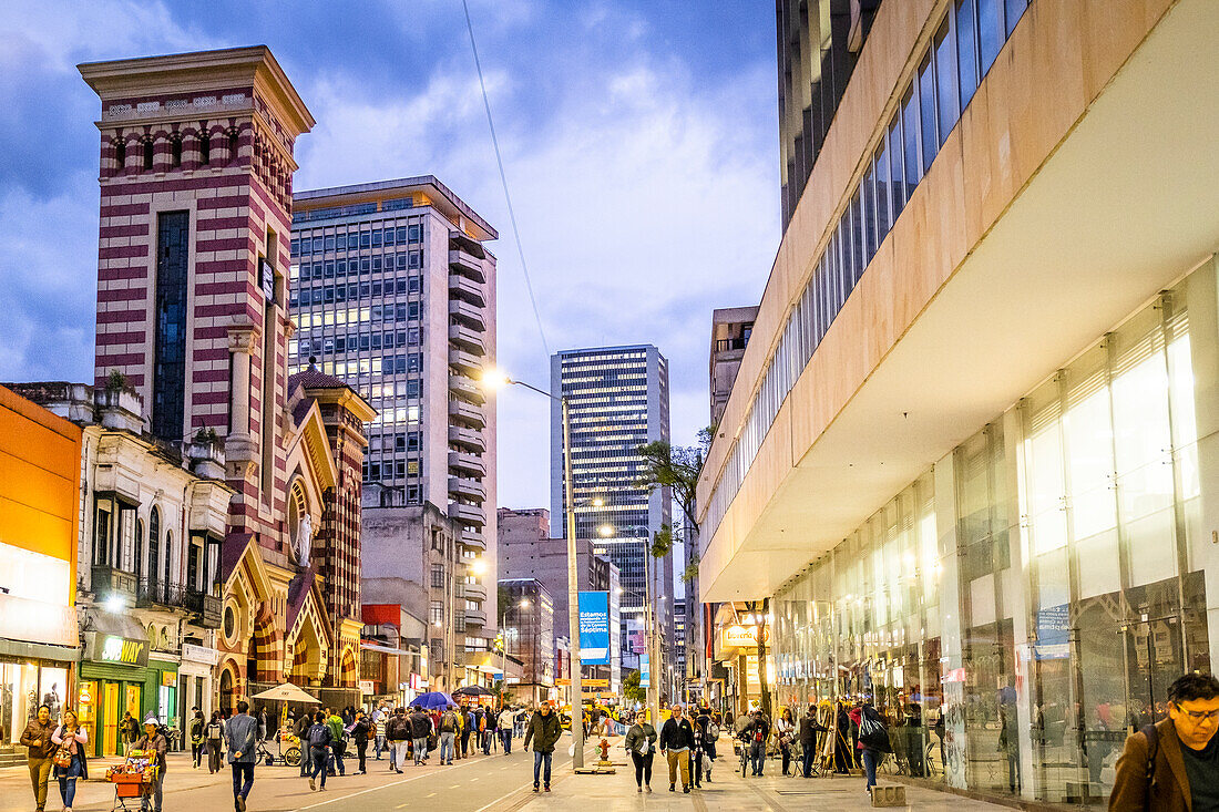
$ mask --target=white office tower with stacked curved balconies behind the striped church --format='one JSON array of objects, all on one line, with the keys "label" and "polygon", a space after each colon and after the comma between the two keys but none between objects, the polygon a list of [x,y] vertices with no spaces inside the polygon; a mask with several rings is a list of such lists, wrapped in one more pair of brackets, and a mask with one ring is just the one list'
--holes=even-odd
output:
[{"label": "white office tower with stacked curved balconies behind the striped church", "polygon": [[[444,578],[461,597],[444,623],[478,650],[495,624],[495,405],[477,378],[495,358],[495,257],[483,243],[497,234],[432,176],[302,191],[293,206],[291,368],[313,358],[378,410],[364,462],[369,522],[384,524],[380,507],[430,504],[457,525],[460,572]],[[425,536],[383,532],[375,544]],[[394,552],[367,551],[407,561]],[[377,575],[428,588],[406,563]]]}]

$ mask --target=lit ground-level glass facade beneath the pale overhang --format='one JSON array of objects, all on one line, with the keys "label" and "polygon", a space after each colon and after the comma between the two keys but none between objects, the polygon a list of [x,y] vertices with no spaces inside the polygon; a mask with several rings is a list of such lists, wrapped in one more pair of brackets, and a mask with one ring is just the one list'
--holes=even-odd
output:
[{"label": "lit ground-level glass facade beneath the pale overhang", "polygon": [[1108,796],[1125,736],[1163,718],[1176,677],[1210,669],[1187,289],[775,596],[779,701],[873,699],[892,771],[1056,803]]}]

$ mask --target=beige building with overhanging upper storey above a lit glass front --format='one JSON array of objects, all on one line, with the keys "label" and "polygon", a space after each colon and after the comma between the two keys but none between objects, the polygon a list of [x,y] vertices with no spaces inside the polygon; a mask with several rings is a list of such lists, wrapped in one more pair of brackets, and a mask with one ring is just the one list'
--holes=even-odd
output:
[{"label": "beige building with overhanging upper storey above a lit glass front", "polygon": [[777,705],[870,697],[915,775],[1061,808],[1214,671],[1217,29],[880,6],[698,485],[737,708],[769,597]]}]

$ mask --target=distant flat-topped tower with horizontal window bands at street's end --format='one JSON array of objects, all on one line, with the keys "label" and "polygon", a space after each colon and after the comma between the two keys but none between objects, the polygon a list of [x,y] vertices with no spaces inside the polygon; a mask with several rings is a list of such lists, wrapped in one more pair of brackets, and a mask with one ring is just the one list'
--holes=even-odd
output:
[{"label": "distant flat-topped tower with horizontal window bands at street's end", "polygon": [[[551,391],[567,397],[572,435],[572,490],[575,538],[592,539],[594,550],[618,567],[622,580],[619,633],[641,628],[644,556],[650,541],[670,521],[668,489],[639,484],[641,445],[669,439],[669,371],[651,345],[566,350],[551,356]],[[564,516],[563,424],[557,402],[551,411],[551,516]],[[563,535],[562,524],[556,535]],[[661,636],[672,639],[673,560],[651,562],[652,594]],[[624,647],[622,664],[636,668],[638,652]]]}]

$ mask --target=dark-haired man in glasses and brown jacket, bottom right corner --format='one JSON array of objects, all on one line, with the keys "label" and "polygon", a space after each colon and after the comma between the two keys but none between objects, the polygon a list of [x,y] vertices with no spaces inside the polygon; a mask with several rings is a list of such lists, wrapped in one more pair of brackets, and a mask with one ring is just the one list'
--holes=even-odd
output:
[{"label": "dark-haired man in glasses and brown jacket, bottom right corner", "polygon": [[1219,812],[1219,680],[1186,674],[1168,689],[1169,718],[1126,739],[1113,812]]}]

